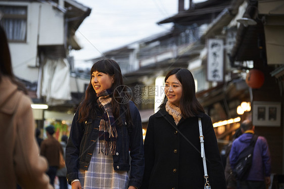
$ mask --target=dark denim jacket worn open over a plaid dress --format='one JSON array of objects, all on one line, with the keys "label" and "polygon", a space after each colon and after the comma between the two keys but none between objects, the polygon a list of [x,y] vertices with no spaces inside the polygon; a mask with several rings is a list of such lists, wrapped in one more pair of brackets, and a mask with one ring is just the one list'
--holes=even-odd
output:
[{"label": "dark denim jacket worn open over a plaid dress", "polygon": [[[129,149],[131,156],[131,171],[129,185],[140,187],[144,173],[144,148],[141,118],[138,109],[132,101],[129,103],[131,120],[133,125],[126,126],[124,112],[121,110],[121,120],[123,125],[116,126],[118,138],[116,146],[116,155],[113,156],[114,170],[129,171]],[[79,123],[78,111],[75,113],[70,136],[66,146],[66,167],[67,180],[78,179],[78,169],[87,170],[94,147],[99,136],[99,124],[102,118],[102,112],[97,112],[97,118],[89,119],[86,122]]]}]

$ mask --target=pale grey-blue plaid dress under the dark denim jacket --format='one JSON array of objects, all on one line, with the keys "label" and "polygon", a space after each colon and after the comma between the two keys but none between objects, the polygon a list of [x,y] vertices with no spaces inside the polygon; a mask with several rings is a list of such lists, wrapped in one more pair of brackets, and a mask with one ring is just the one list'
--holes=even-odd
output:
[{"label": "pale grey-blue plaid dress under the dark denim jacket", "polygon": [[99,144],[91,157],[88,170],[79,170],[79,180],[83,189],[124,189],[128,188],[127,171],[113,169],[113,157],[99,154]]}]

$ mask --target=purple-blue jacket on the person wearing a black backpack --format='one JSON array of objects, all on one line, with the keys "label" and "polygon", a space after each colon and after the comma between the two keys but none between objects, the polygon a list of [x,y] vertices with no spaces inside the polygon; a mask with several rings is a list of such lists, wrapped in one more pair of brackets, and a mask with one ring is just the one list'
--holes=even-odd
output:
[{"label": "purple-blue jacket on the person wearing a black backpack", "polygon": [[[230,152],[230,164],[234,167],[240,153],[249,146],[253,137],[252,133],[244,133],[232,143]],[[271,159],[268,144],[263,136],[258,136],[253,152],[253,163],[247,180],[263,181],[264,177],[270,176]]]}]

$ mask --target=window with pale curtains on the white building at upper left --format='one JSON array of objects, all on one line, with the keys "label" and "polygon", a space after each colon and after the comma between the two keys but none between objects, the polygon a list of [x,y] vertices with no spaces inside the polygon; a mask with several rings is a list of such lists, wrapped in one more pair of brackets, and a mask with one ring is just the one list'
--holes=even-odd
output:
[{"label": "window with pale curtains on the white building at upper left", "polygon": [[9,41],[25,42],[27,35],[27,7],[0,6],[4,14],[1,25]]}]

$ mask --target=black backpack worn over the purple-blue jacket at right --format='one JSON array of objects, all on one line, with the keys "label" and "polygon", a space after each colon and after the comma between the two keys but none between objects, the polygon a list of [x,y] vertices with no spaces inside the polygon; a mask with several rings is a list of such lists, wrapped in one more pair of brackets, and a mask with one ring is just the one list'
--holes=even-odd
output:
[{"label": "black backpack worn over the purple-blue jacket at right", "polygon": [[232,172],[237,180],[245,180],[250,172],[257,138],[258,136],[254,134],[250,145],[240,153],[238,160],[236,160]]}]

